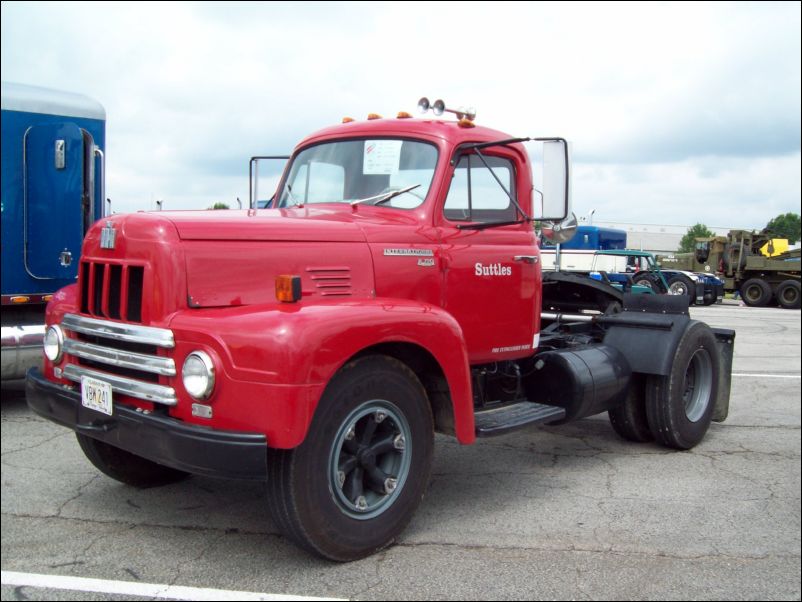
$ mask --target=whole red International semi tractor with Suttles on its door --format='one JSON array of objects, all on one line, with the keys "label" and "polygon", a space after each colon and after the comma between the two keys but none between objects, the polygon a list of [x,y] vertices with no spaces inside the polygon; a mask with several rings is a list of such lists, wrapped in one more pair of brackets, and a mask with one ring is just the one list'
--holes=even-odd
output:
[{"label": "whole red International semi tractor with Suttles on its door", "polygon": [[699,443],[727,416],[735,333],[685,296],[542,274],[533,212],[568,214],[567,144],[534,139],[536,190],[529,139],[460,117],[312,134],[270,209],[96,223],[30,407],[133,486],[266,480],[281,530],[337,561],[409,523],[435,432],[609,412],[626,439]]}]

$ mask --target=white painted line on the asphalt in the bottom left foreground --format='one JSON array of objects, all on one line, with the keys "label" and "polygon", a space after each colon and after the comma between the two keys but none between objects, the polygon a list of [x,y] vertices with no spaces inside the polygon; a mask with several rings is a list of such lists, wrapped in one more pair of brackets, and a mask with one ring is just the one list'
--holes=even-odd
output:
[{"label": "white painted line on the asphalt in the bottom left foreground", "polygon": [[123,596],[142,596],[167,600],[342,600],[343,598],[309,598],[283,594],[264,594],[258,592],[238,592],[224,589],[184,587],[161,583],[134,583],[132,581],[107,581],[86,577],[66,577],[63,575],[41,575],[36,573],[17,573],[2,571],[2,584],[14,587],[39,587],[46,589],[65,589],[100,594]]}]

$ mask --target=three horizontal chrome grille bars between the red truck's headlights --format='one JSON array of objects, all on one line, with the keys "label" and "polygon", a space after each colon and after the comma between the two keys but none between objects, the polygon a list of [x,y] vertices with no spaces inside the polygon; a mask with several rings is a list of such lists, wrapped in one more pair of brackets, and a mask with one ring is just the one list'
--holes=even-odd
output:
[{"label": "three horizontal chrome grille bars between the red truck's headlights", "polygon": [[77,337],[64,342],[65,353],[78,361],[65,366],[65,378],[80,382],[81,376],[91,376],[122,395],[170,406],[177,403],[175,390],[158,384],[159,376],[176,374],[173,359],[158,355],[160,348],[175,347],[172,331],[75,314],[66,314],[61,327]]}]

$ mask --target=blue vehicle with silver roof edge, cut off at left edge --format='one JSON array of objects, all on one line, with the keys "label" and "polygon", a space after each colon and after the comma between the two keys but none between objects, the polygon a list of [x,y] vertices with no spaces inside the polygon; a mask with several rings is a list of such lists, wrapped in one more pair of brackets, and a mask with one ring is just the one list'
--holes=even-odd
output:
[{"label": "blue vehicle with silver roof edge, cut off at left edge", "polygon": [[2,379],[41,361],[44,312],[78,275],[104,209],[106,111],[80,94],[2,83]]}]

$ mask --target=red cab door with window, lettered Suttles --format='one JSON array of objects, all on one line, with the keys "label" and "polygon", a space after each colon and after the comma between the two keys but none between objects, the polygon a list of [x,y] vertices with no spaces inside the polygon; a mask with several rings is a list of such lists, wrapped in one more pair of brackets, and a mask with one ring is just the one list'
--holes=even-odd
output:
[{"label": "red cab door with window, lettered Suttles", "polygon": [[484,158],[458,161],[440,230],[443,307],[460,323],[471,363],[531,355],[540,311],[532,225],[476,227],[521,219],[509,196],[517,198],[514,162]]}]

